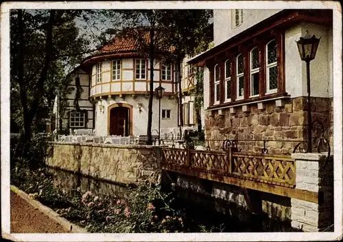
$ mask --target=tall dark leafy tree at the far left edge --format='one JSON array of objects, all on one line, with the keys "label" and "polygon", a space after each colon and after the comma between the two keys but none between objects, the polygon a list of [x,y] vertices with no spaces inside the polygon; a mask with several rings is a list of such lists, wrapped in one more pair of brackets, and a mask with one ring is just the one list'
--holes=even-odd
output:
[{"label": "tall dark leafy tree at the far left edge", "polygon": [[10,66],[11,116],[23,128],[29,143],[32,124],[42,119],[41,110],[50,109],[56,87],[66,73],[89,51],[80,36],[75,18],[80,10],[11,10]]}]

